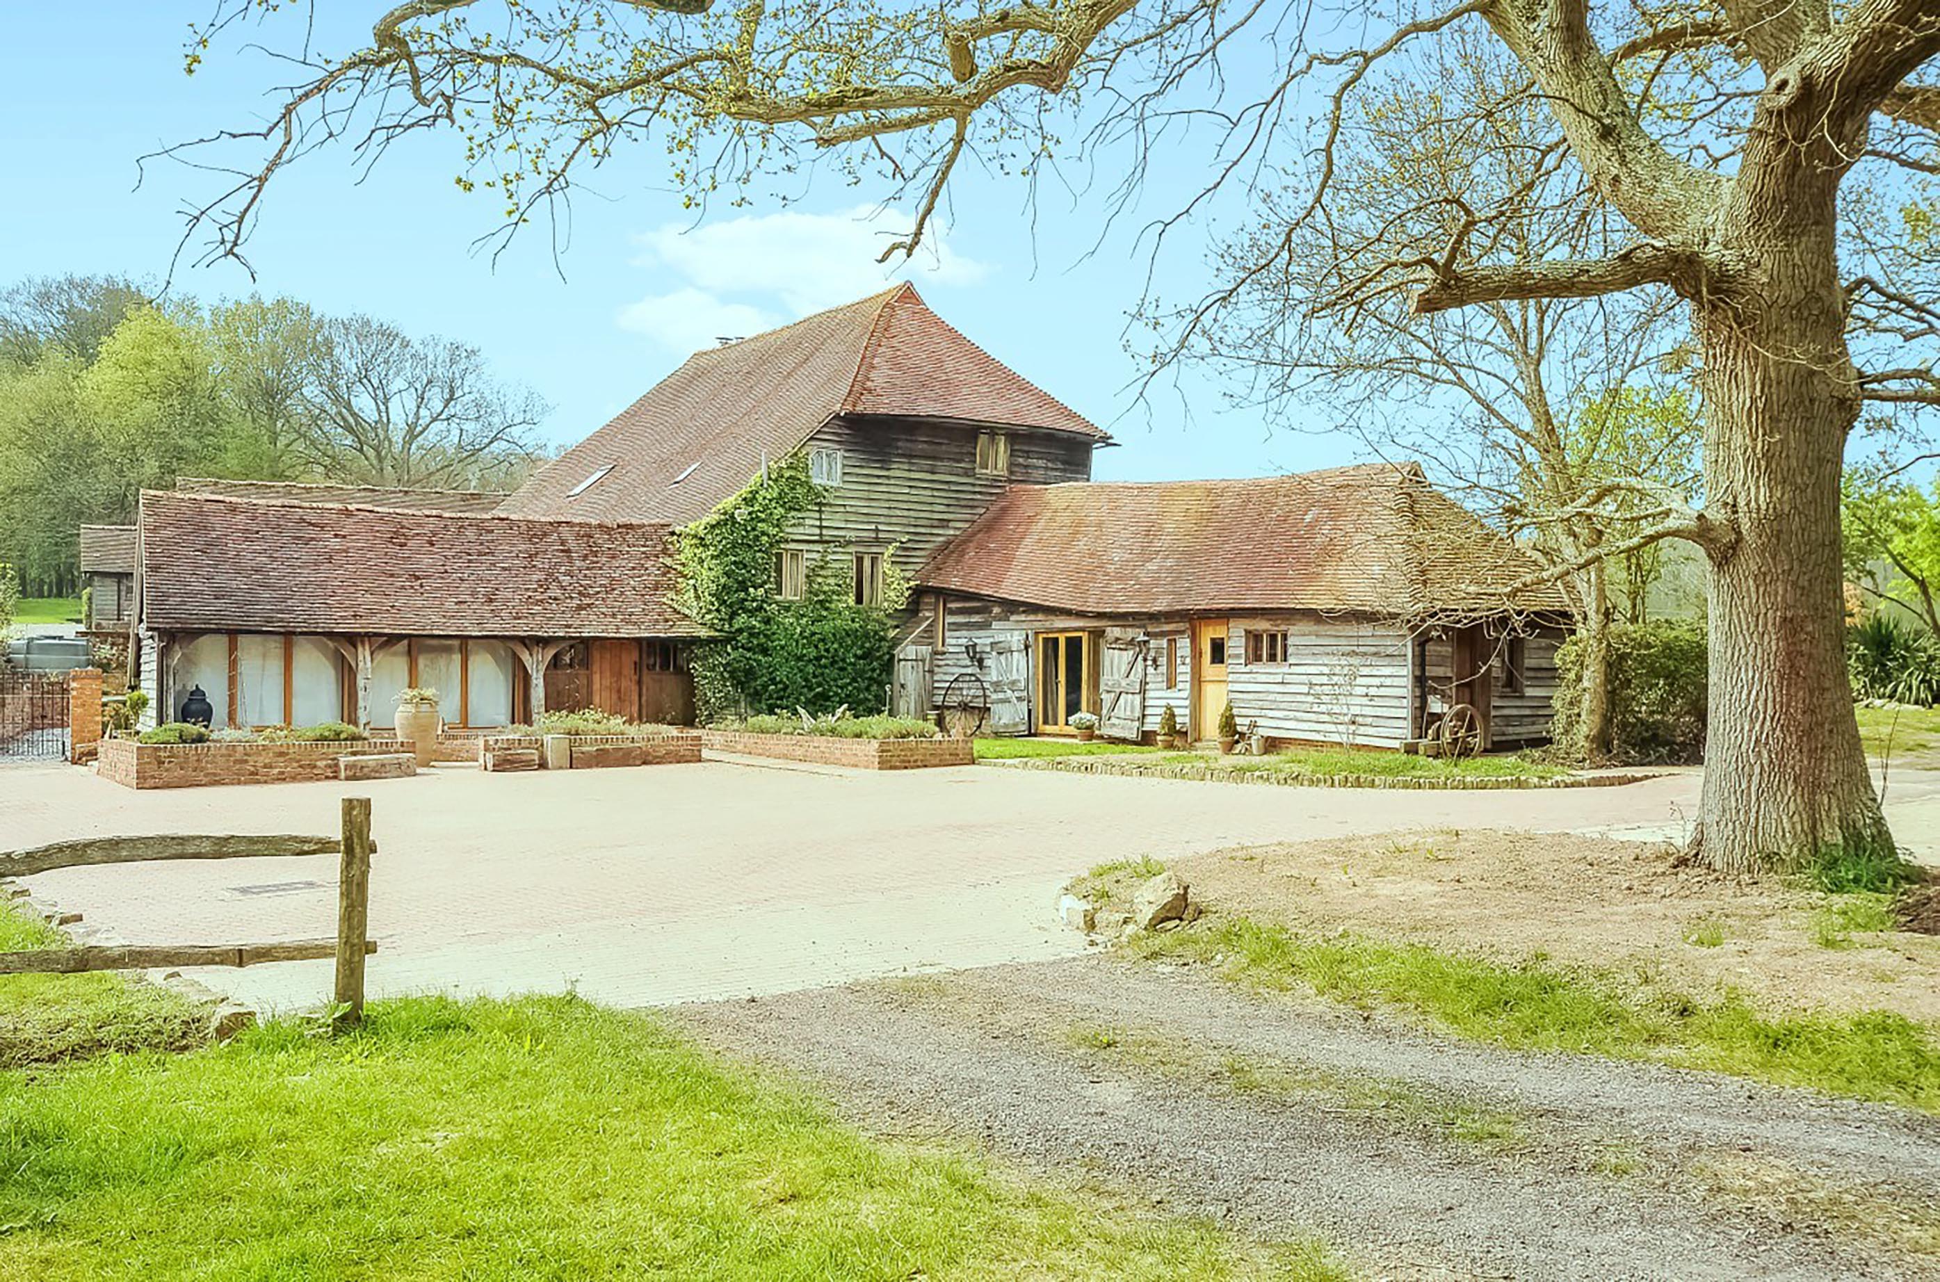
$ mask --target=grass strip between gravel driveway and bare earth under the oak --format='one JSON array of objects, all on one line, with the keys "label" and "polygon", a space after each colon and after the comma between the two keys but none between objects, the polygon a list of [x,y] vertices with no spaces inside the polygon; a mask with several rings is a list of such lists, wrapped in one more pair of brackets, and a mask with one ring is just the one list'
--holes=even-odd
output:
[{"label": "grass strip between gravel driveway and bare earth under the oak", "polygon": [[1261,989],[1391,1009],[1517,1049],[1587,1051],[1812,1086],[1940,1113],[1940,1043],[1886,1010],[1765,1014],[1736,995],[1698,1001],[1542,956],[1505,964],[1362,935],[1298,935],[1244,917],[1152,935],[1137,956],[1216,964]]}]

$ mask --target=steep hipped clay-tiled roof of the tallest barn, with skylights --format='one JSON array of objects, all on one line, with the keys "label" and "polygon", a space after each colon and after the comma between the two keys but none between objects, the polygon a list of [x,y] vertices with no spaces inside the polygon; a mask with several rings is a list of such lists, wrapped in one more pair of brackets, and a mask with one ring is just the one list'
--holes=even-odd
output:
[{"label": "steep hipped clay-tiled roof of the tallest barn, with skylights", "polygon": [[896,285],[695,353],[499,510],[683,526],[739,493],[762,460],[784,458],[838,415],[993,423],[1108,440],[945,324],[914,287]]}]

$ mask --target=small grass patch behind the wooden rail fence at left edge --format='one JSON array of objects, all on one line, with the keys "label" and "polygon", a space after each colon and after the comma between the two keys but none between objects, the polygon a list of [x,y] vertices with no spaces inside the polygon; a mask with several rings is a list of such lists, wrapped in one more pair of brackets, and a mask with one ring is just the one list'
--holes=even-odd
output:
[{"label": "small grass patch behind the wooden rail fence at left edge", "polygon": [[[62,931],[0,904],[0,952],[60,948]],[[0,976],[0,1069],[146,1049],[206,1038],[206,1014],[173,989],[124,976]]]}]

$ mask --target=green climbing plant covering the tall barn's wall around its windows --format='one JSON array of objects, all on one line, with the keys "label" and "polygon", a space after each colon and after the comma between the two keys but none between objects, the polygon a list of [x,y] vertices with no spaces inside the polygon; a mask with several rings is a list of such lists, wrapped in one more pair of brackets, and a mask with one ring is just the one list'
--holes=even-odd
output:
[{"label": "green climbing plant covering the tall barn's wall around its windows", "polygon": [[776,593],[776,555],[826,493],[799,452],[679,535],[681,607],[720,634],[695,656],[702,721],[745,714],[883,712],[894,615],[910,584],[883,557],[877,605],[854,601],[852,557],[809,557],[801,599]]}]

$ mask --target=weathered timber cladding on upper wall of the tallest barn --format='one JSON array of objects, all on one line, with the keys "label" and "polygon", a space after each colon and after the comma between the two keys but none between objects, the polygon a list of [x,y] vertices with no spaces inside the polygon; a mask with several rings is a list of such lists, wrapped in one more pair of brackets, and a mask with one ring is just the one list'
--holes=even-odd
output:
[{"label": "weathered timber cladding on upper wall of the tallest barn", "polygon": [[1061,433],[1011,433],[1011,475],[976,471],[976,425],[834,419],[807,448],[842,450],[842,485],[795,529],[797,547],[894,545],[914,574],[962,533],[1007,485],[1088,481],[1094,442]]}]

